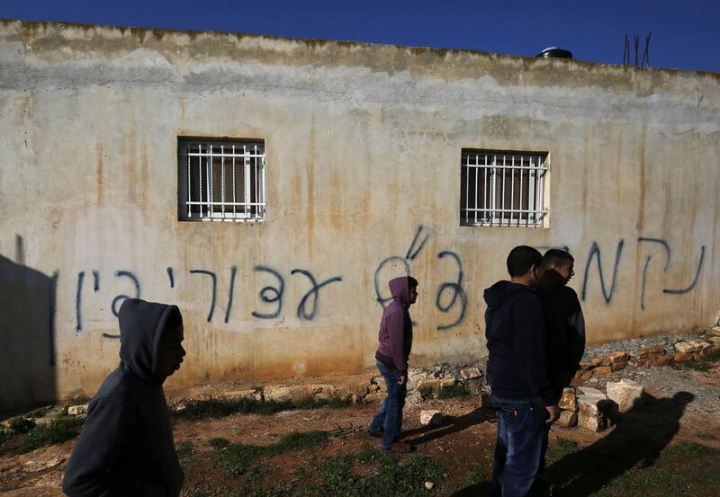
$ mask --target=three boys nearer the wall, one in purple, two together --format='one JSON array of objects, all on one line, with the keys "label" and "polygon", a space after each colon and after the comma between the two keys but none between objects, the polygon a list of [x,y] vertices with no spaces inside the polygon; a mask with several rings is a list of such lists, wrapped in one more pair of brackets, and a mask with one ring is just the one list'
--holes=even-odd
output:
[{"label": "three boys nearer the wall, one in purple, two together", "polygon": [[[487,379],[497,412],[492,465],[492,497],[544,495],[548,431],[560,415],[558,402],[580,366],[585,349],[585,321],[580,300],[567,286],[574,275],[568,252],[520,245],[508,255],[510,280],[484,292]],[[412,348],[410,306],[418,298],[418,280],[390,281],[392,302],[383,312],[375,352],[387,386],[368,433],[383,448],[405,453],[401,441],[402,408]]]}]

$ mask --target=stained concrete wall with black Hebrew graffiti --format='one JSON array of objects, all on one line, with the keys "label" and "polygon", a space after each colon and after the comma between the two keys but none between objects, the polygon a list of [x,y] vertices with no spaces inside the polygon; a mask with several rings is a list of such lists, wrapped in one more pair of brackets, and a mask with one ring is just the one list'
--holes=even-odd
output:
[{"label": "stained concrete wall with black Hebrew graffiti", "polygon": [[[375,281],[387,297],[405,263],[412,362],[477,359],[482,289],[516,244],[575,254],[590,342],[720,308],[716,74],[3,22],[0,116],[0,408],[93,394],[112,303],[138,293],[184,312],[172,386],[372,367]],[[264,139],[266,222],[178,222],[178,136]],[[464,147],[549,152],[549,227],[460,226]],[[311,319],[294,269],[342,279]]]}]

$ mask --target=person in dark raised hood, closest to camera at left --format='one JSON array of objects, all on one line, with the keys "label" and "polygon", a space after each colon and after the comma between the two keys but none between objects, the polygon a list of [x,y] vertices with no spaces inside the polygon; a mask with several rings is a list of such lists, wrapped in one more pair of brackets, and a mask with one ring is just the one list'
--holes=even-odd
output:
[{"label": "person in dark raised hood, closest to camera at left", "polygon": [[90,401],[62,489],[70,497],[177,497],[183,470],[175,453],[163,382],[185,351],[177,306],[122,303],[120,366]]}]

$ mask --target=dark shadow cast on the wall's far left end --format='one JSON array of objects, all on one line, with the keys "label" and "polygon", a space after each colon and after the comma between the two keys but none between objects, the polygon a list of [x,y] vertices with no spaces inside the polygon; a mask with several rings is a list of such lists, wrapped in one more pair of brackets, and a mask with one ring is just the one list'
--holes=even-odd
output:
[{"label": "dark shadow cast on the wall's far left end", "polygon": [[0,413],[56,398],[55,303],[58,273],[26,267],[23,238],[16,262],[0,254]]}]

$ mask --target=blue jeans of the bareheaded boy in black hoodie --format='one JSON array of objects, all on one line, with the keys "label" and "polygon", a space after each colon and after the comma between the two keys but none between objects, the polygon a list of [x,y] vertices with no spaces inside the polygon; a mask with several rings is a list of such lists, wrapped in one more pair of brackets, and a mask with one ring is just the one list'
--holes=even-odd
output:
[{"label": "blue jeans of the bareheaded boy in black hoodie", "polygon": [[548,413],[540,399],[491,395],[498,413],[491,497],[525,497],[543,466]]}]

